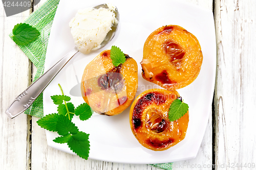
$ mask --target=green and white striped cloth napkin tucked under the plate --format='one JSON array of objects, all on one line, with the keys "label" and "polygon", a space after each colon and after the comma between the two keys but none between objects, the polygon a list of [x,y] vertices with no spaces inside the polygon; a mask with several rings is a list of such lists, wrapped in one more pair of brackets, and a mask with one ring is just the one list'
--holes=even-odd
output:
[{"label": "green and white striped cloth napkin tucked under the plate", "polygon": [[[39,37],[35,41],[27,45],[19,45],[20,49],[22,49],[22,51],[28,56],[28,58],[37,68],[33,82],[44,73],[48,39],[58,4],[59,0],[48,0],[47,2],[42,4],[36,11],[34,11],[28,17],[28,19],[24,21],[30,26],[35,27],[40,32]],[[9,36],[12,37],[12,35],[13,34],[11,33]],[[36,101],[30,106],[28,110],[25,111],[25,113],[36,117],[44,116],[42,94],[39,95]],[[170,170],[173,168],[172,162],[150,165],[166,170]]]}]

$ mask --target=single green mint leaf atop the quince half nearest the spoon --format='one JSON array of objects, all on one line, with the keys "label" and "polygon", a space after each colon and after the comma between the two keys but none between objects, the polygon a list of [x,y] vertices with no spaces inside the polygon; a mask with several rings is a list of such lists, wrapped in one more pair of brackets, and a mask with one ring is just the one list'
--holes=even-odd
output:
[{"label": "single green mint leaf atop the quince half nearest the spoon", "polygon": [[112,64],[117,67],[125,62],[124,53],[117,46],[113,45],[110,50],[110,58],[112,59]]}]

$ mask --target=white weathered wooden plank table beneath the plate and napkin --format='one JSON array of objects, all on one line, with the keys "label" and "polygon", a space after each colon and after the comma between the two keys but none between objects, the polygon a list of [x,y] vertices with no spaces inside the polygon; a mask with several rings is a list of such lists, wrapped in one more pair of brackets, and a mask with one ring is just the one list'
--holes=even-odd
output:
[{"label": "white weathered wooden plank table beneath the plate and napkin", "polygon": [[[33,64],[8,35],[16,23],[23,22],[44,2],[41,0],[33,9],[10,17],[6,17],[0,5],[0,169],[158,169],[149,165],[84,160],[60,152],[48,147],[45,130],[36,123],[38,118],[22,114],[10,119],[5,114],[35,74]],[[186,2],[214,13],[217,77],[212,115],[197,158],[175,162],[174,169],[253,169],[252,163],[256,163],[256,1]],[[236,167],[237,163],[247,167]]]}]

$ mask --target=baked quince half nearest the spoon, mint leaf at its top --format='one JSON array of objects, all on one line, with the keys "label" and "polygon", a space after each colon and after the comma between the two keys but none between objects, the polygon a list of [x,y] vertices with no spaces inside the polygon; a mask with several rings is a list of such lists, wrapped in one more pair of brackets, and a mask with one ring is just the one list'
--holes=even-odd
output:
[{"label": "baked quince half nearest the spoon, mint leaf at its top", "polygon": [[110,50],[101,52],[84,69],[83,100],[99,114],[116,115],[129,107],[138,88],[137,62],[125,55],[125,62],[112,64]]}]

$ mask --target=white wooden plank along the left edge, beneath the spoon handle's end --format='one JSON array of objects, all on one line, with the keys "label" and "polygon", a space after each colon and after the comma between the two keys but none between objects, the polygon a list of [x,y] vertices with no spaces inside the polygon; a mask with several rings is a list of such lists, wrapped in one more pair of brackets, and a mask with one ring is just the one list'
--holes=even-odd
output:
[{"label": "white wooden plank along the left edge, beneath the spoon handle's end", "polygon": [[11,119],[5,114],[11,102],[28,86],[28,57],[11,40],[13,27],[26,19],[31,10],[6,17],[0,5],[0,169],[29,169],[29,118],[26,114]]}]

